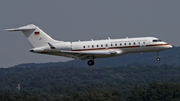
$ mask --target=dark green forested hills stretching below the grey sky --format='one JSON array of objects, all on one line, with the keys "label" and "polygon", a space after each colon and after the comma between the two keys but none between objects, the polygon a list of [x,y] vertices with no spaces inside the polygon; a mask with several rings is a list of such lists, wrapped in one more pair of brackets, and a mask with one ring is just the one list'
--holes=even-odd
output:
[{"label": "dark green forested hills stretching below the grey sky", "polygon": [[179,50],[0,68],[0,101],[180,101]]}]

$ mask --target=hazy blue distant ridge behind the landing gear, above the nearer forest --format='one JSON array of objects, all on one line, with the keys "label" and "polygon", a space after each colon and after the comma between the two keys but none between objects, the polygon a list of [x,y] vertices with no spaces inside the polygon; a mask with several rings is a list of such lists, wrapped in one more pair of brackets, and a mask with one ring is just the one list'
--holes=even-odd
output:
[{"label": "hazy blue distant ridge behind the landing gear, above the nearer forest", "polygon": [[[157,58],[157,52],[126,54],[112,58],[95,59],[94,67],[126,66],[130,64],[180,65],[180,47],[174,47],[172,49],[160,52],[161,61],[157,61],[156,58]],[[30,66],[30,65],[87,67],[87,60],[85,61],[72,60],[68,62],[56,62],[56,63],[50,62],[50,63],[39,63],[39,64],[34,64],[34,63],[21,64],[21,66]]]}]

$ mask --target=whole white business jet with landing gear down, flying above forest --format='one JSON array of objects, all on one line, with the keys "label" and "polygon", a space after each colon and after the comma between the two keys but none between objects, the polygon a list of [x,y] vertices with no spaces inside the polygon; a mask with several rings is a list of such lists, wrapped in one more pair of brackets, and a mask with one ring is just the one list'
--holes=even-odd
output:
[{"label": "whole white business jet with landing gear down, flying above forest", "polygon": [[172,45],[155,37],[64,42],[52,39],[33,24],[6,30],[22,31],[34,47],[30,49],[30,52],[81,60],[89,59],[87,62],[89,66],[94,65],[96,58],[153,51],[157,52],[157,61],[160,61],[159,52],[172,48]]}]

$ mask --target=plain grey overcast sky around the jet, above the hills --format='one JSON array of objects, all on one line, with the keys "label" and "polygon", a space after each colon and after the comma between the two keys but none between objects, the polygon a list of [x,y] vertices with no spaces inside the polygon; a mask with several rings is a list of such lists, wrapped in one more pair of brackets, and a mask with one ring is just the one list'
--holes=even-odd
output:
[{"label": "plain grey overcast sky around the jet, above the hills", "polygon": [[1,0],[0,67],[67,61],[29,52],[22,32],[35,24],[62,41],[153,36],[180,45],[180,0]]}]

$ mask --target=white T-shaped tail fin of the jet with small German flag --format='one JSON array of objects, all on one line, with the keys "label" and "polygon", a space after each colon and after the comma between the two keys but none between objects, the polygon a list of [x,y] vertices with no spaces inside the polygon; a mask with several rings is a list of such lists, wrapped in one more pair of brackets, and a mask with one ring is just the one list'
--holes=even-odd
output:
[{"label": "white T-shaped tail fin of the jet with small German flag", "polygon": [[62,41],[57,41],[52,39],[49,35],[43,32],[39,27],[30,24],[27,26],[22,26],[19,28],[6,29],[8,31],[22,31],[27,37],[33,47],[42,47],[48,45],[48,43],[57,43]]}]

